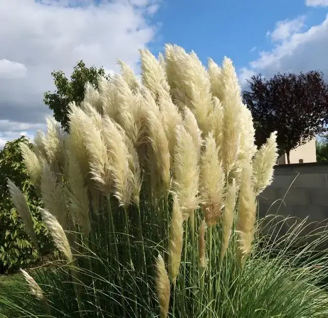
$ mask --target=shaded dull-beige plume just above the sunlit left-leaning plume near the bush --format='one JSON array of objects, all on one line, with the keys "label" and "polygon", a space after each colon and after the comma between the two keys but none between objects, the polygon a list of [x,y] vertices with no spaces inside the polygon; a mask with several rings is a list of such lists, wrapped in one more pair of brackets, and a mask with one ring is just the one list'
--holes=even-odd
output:
[{"label": "shaded dull-beige plume just above the sunlit left-leaning plume near the bush", "polygon": [[66,197],[63,186],[57,176],[50,170],[48,163],[44,164],[41,181],[41,194],[45,208],[54,215],[61,226],[67,226]]}]

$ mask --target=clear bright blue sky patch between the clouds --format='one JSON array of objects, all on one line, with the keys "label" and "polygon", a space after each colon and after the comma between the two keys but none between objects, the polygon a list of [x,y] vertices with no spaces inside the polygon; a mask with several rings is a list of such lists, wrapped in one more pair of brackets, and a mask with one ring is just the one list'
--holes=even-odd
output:
[{"label": "clear bright blue sky patch between the clouds", "polygon": [[259,51],[272,48],[266,32],[277,21],[306,15],[305,24],[311,26],[321,23],[327,12],[326,7],[306,6],[303,0],[169,0],[154,16],[162,27],[151,50],[157,54],[163,43],[174,43],[196,51],[204,63],[207,57],[221,61],[227,55],[241,69]]}]

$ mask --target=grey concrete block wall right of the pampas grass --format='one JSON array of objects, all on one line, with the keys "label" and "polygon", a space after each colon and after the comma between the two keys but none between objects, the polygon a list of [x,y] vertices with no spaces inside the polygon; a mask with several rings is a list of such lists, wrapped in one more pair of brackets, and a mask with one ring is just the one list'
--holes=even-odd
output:
[{"label": "grey concrete block wall right of the pampas grass", "polygon": [[259,208],[260,216],[269,213],[301,220],[309,216],[317,222],[328,219],[328,162],[275,166],[272,184],[260,194]]}]

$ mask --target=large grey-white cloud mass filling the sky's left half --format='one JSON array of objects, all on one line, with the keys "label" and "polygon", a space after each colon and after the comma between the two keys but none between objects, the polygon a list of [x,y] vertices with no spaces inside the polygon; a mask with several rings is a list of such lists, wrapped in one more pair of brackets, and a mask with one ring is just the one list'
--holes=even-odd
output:
[{"label": "large grey-white cloud mass filling the sky's left half", "polygon": [[[118,70],[116,59],[138,70],[138,48],[156,34],[158,0],[1,0],[0,147],[33,132],[51,115],[43,93],[51,72],[69,76],[76,62]],[[18,129],[19,125],[30,125]],[[16,128],[15,128],[16,127]]]}]

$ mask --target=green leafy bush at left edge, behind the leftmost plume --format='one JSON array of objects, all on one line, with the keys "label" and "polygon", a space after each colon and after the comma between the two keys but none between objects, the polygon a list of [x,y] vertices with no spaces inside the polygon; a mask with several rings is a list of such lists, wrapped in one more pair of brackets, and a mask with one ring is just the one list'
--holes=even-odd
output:
[{"label": "green leafy bush at left edge, behind the leftmost plume", "polygon": [[11,202],[7,178],[10,178],[26,196],[40,250],[47,253],[52,246],[48,230],[37,210],[37,207],[42,206],[42,202],[27,176],[19,148],[20,143],[25,143],[33,149],[28,139],[22,136],[7,142],[0,151],[0,273],[26,267],[38,259],[37,250],[27,236],[24,224]]}]

